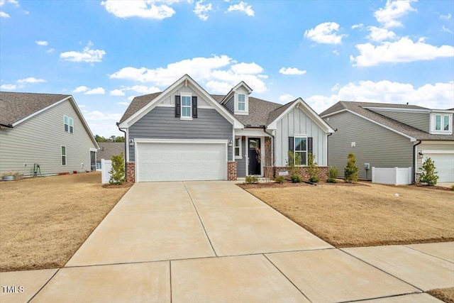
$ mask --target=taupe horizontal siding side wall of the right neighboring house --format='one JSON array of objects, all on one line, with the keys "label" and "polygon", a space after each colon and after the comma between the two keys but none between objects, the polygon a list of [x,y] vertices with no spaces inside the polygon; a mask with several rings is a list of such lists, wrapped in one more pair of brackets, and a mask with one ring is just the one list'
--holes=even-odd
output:
[{"label": "taupe horizontal siding side wall of the right neighboring house", "polygon": [[[360,167],[358,177],[366,179],[365,163],[370,163],[367,179],[373,167],[412,167],[414,143],[394,131],[349,112],[329,116],[325,121],[337,131],[328,137],[328,165],[339,169],[343,177],[349,153],[356,155]],[[352,143],[355,142],[355,147]]]}]

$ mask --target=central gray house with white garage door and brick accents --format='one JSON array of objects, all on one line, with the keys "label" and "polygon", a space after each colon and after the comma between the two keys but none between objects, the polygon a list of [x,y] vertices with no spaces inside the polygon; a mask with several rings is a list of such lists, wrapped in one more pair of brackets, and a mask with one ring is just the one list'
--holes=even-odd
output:
[{"label": "central gray house with white garage door and brick accents", "polygon": [[135,97],[118,127],[126,133],[128,181],[236,180],[286,165],[289,150],[328,164],[333,133],[302,99],[282,105],[250,97],[240,82],[209,94],[188,75]]}]

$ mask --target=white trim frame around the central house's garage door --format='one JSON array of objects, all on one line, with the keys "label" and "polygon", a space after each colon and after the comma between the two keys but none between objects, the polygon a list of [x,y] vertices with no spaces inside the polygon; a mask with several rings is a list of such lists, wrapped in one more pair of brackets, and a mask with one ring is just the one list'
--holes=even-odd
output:
[{"label": "white trim frame around the central house's garage door", "polygon": [[[228,162],[228,140],[192,140],[192,139],[150,139],[150,138],[141,138],[134,140],[134,155],[135,155],[135,180],[140,182],[139,170],[140,163],[139,161],[139,150],[140,145],[143,143],[170,143],[170,144],[214,144],[214,145],[223,145],[225,150],[225,158],[223,164],[225,164],[223,172],[223,180],[227,180],[227,162]],[[183,178],[182,178],[183,179]],[[173,180],[156,180],[156,181],[173,181]],[[145,181],[146,182],[146,181]]]}]

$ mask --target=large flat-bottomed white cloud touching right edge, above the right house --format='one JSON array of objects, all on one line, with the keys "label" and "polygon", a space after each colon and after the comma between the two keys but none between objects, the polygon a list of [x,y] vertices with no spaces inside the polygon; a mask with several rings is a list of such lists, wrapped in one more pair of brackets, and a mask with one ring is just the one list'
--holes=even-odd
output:
[{"label": "large flat-bottomed white cloud touching right edge, above the right house", "polygon": [[419,39],[414,43],[407,37],[396,42],[384,42],[382,45],[370,43],[358,44],[360,51],[357,57],[350,56],[353,66],[369,67],[384,62],[412,62],[419,60],[433,60],[438,57],[454,57],[454,47],[442,45],[440,47],[424,43]]}]

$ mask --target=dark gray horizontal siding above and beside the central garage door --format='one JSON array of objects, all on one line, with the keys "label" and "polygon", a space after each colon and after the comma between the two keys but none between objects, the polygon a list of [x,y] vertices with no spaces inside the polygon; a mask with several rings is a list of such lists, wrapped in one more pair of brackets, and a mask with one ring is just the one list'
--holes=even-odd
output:
[{"label": "dark gray horizontal siding above and beside the central garage door", "polygon": [[[175,118],[175,108],[155,107],[129,128],[129,138],[232,140],[232,125],[214,109],[198,109],[192,121]],[[233,148],[228,148],[228,160]],[[134,162],[134,146],[129,146]]]}]

